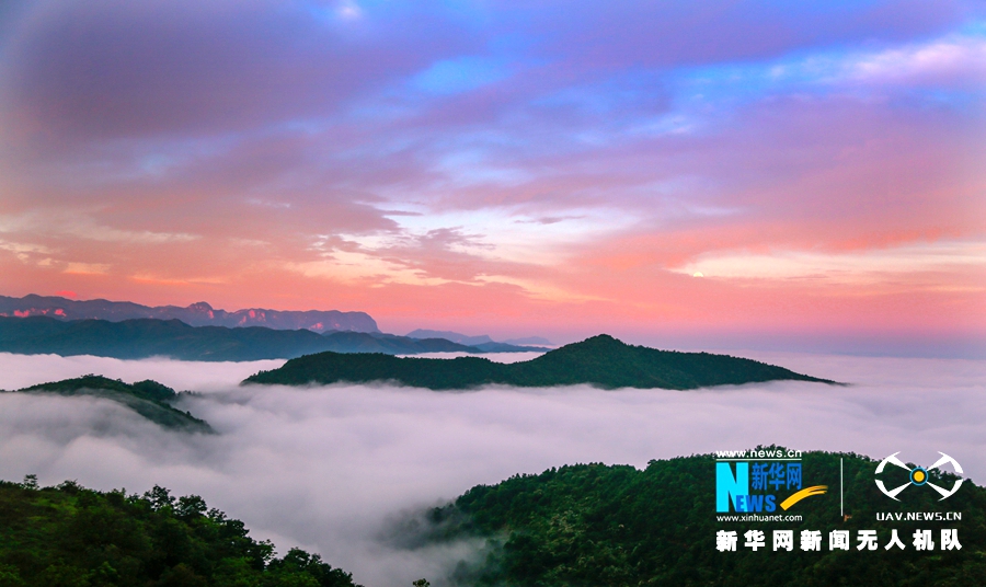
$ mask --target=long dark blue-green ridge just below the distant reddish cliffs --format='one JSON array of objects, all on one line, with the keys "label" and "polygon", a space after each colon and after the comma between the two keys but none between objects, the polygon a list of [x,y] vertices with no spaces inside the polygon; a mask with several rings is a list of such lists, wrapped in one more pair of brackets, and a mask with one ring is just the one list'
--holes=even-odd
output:
[{"label": "long dark blue-green ridge just below the distant reddish cliffs", "polygon": [[179,320],[64,321],[49,316],[0,318],[0,352],[23,355],[94,355],[121,359],[154,356],[182,360],[260,360],[311,353],[496,353],[531,350],[492,343],[460,345],[444,338],[408,338],[383,333],[273,330],[260,326],[190,326]]}]

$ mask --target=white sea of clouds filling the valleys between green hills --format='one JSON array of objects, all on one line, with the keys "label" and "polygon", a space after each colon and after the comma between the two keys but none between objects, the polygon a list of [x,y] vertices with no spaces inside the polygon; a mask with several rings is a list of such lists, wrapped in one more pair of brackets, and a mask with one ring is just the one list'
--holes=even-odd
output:
[{"label": "white sea of clouds filling the valleys between green hills", "polygon": [[[195,390],[219,434],[169,431],[96,398],[0,394],[0,477],[197,494],[280,552],[299,545],[367,587],[442,577],[475,551],[394,545],[388,528],[477,484],[576,462],[630,463],[778,444],[931,464],[986,480],[986,361],[744,353],[850,383],[698,391],[239,387],[283,361],[124,361],[0,354],[0,389],[84,373]],[[514,360],[519,357],[504,357]],[[524,357],[528,358],[528,357]],[[712,488],[710,487],[710,491]],[[711,513],[710,513],[711,514]]]}]

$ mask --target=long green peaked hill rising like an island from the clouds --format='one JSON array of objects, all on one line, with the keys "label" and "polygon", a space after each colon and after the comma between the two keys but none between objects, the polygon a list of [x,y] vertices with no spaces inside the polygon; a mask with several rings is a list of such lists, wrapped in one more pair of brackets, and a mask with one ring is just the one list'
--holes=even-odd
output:
[{"label": "long green peaked hill rising like an island from the clouds", "polygon": [[628,345],[606,334],[514,364],[478,357],[425,359],[382,354],[320,353],[291,359],[278,369],[261,371],[246,378],[244,383],[303,385],[312,382],[393,381],[433,390],[468,389],[493,383],[516,387],[589,383],[604,389],[695,389],[779,379],[832,383],[750,359],[656,350]]}]

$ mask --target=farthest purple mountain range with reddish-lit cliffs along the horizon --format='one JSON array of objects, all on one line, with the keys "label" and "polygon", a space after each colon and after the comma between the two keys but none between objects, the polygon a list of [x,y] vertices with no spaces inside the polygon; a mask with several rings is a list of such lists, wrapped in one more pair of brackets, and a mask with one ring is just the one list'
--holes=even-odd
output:
[{"label": "farthest purple mountain range with reddish-lit cliffs along the horizon", "polygon": [[139,318],[181,320],[192,326],[265,326],[275,330],[307,329],[313,332],[355,331],[380,332],[377,323],[365,312],[283,311],[251,308],[227,312],[200,301],[186,308],[177,306],[140,306],[129,301],[70,300],[60,297],[35,296],[9,298],[0,296],[0,316],[27,318],[46,315],[59,320],[107,320],[121,322]]}]

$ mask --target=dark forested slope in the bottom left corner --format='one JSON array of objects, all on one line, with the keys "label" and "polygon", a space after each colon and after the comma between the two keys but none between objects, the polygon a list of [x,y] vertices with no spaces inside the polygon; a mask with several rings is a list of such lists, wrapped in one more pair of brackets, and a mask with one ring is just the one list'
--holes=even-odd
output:
[{"label": "dark forested slope in the bottom left corner", "polygon": [[0,482],[2,587],[358,587],[318,554],[273,552],[195,495]]}]

